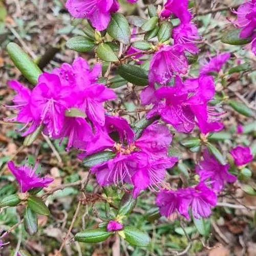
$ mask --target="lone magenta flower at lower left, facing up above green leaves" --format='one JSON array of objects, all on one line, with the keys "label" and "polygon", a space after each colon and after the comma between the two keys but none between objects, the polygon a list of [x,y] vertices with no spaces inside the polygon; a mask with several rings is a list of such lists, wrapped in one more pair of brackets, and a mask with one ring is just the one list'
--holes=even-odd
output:
[{"label": "lone magenta flower at lower left, facing up above green leaves", "polygon": [[36,163],[33,169],[27,165],[17,167],[14,165],[13,161],[9,161],[7,164],[12,174],[18,181],[22,193],[25,193],[26,191],[35,187],[47,187],[51,182],[53,182],[52,178],[40,178],[35,174],[38,163]]}]

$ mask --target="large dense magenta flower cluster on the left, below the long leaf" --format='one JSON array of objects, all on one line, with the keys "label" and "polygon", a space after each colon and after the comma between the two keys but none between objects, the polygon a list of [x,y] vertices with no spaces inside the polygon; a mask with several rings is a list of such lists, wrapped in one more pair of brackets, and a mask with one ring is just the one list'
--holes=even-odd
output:
[{"label": "large dense magenta flower cluster on the left, below the long leaf", "polygon": [[[17,92],[10,107],[18,114],[8,120],[25,123],[22,130],[29,126],[23,136],[42,125],[44,134],[54,139],[68,137],[67,149],[86,147],[100,134],[94,130],[101,130],[105,124],[103,102],[116,98],[113,90],[97,83],[100,73],[100,65],[90,69],[88,62],[78,57],[73,65],[63,63],[52,74],[42,73],[32,91],[10,81],[9,86]],[[81,117],[69,115],[73,108],[81,112]]]}]

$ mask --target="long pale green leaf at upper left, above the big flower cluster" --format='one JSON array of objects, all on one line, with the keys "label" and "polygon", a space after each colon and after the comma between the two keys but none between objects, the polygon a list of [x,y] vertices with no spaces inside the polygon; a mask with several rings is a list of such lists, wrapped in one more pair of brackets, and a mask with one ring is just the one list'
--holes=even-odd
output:
[{"label": "long pale green leaf at upper left, above the big flower cluster", "polygon": [[42,73],[42,71],[29,57],[29,55],[25,53],[17,44],[15,44],[15,42],[9,42],[7,45],[7,52],[19,71],[22,72],[22,74],[32,84],[36,84],[38,76]]}]

